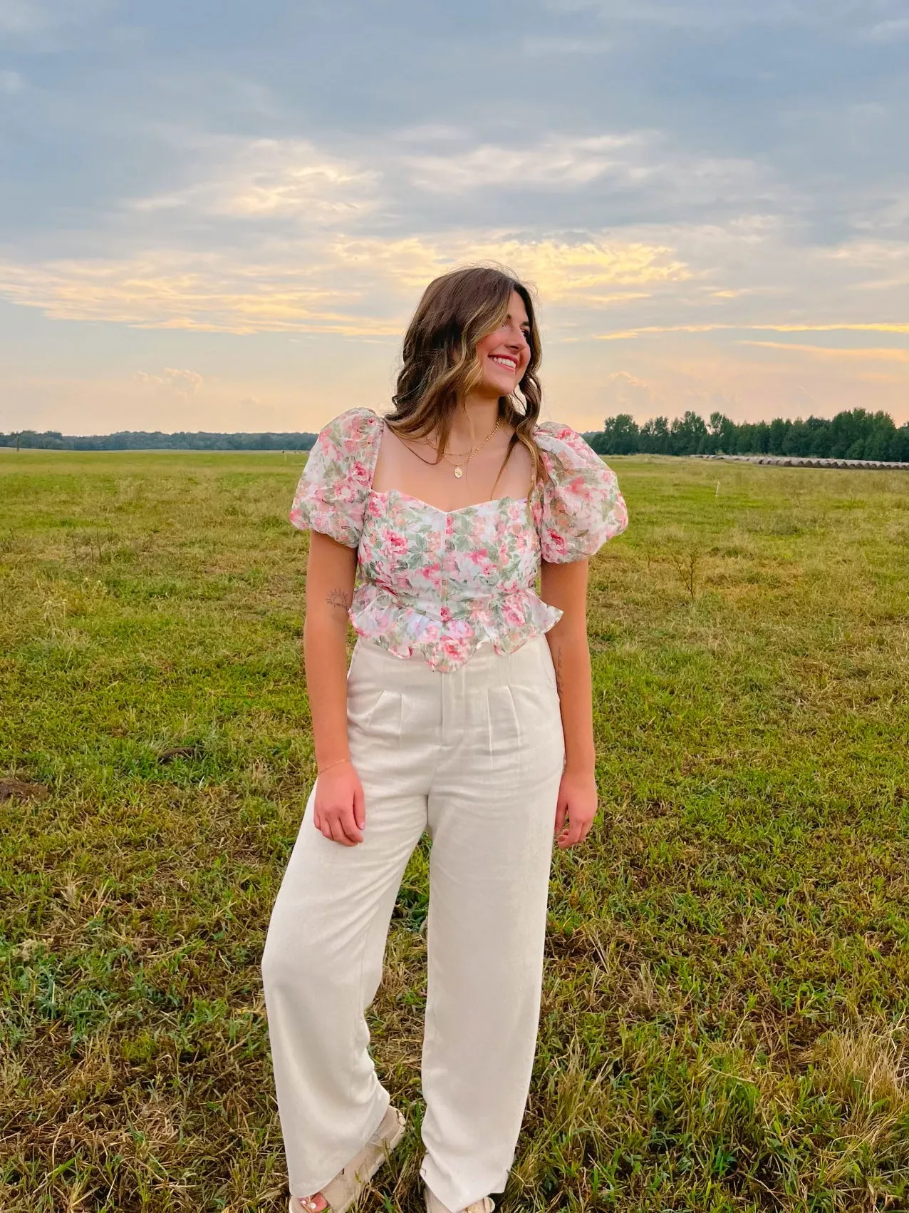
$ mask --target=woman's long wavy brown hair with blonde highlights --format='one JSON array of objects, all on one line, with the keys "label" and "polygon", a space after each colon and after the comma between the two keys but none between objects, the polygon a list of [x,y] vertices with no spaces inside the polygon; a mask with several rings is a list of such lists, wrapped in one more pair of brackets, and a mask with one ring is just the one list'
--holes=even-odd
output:
[{"label": "woman's long wavy brown hair with blonde highlights", "polygon": [[530,361],[516,392],[499,397],[498,415],[507,425],[514,426],[514,434],[496,482],[515,444],[521,443],[533,461],[536,485],[545,477],[533,438],[543,397],[537,378],[539,332],[528,289],[507,269],[469,266],[452,269],[427,286],[404,338],[398,389],[391,397],[395,410],[388,414],[385,421],[402,438],[418,439],[433,433],[441,460],[454,410],[482,382],[478,342],[503,323],[513,291],[520,295],[527,309]]}]

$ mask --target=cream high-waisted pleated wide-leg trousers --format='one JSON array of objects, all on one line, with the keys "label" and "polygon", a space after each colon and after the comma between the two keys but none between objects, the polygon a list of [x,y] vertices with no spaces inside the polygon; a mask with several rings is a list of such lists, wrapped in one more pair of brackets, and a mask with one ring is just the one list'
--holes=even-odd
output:
[{"label": "cream high-waisted pleated wide-leg trousers", "polygon": [[313,825],[315,787],[262,959],[290,1188],[319,1191],[389,1103],[364,1012],[407,860],[431,839],[421,1174],[450,1209],[502,1191],[530,1090],[565,742],[545,637],[451,673],[358,640],[350,754],[364,841]]}]

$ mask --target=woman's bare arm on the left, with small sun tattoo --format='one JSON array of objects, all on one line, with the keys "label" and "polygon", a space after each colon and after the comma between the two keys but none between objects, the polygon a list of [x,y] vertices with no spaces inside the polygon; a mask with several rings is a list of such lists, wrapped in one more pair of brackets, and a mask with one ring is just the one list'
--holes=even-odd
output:
[{"label": "woman's bare arm on the left, with small sun tattoo", "polygon": [[347,623],[355,574],[356,548],[310,531],[303,660],[321,771],[314,819],[316,830],[343,847],[362,842],[366,824],[362,785],[347,736]]}]

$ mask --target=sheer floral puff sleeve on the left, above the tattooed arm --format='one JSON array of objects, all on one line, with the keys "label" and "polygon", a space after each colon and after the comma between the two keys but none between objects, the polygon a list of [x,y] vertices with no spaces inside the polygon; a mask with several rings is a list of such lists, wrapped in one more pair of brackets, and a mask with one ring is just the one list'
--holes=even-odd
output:
[{"label": "sheer floral puff sleeve on the left, above the tattooed arm", "polygon": [[381,434],[382,418],[371,409],[348,409],[320,431],[288,514],[298,530],[359,545]]}]

